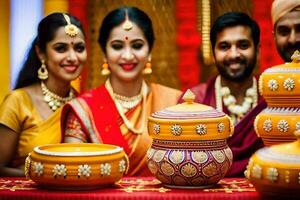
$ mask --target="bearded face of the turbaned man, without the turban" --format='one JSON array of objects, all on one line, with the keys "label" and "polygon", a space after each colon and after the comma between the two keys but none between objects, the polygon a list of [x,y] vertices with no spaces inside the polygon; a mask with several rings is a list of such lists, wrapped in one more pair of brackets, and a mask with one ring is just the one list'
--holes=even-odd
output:
[{"label": "bearded face of the turbaned man, without the turban", "polygon": [[274,40],[281,58],[291,62],[294,51],[300,50],[300,11],[292,11],[275,25]]}]

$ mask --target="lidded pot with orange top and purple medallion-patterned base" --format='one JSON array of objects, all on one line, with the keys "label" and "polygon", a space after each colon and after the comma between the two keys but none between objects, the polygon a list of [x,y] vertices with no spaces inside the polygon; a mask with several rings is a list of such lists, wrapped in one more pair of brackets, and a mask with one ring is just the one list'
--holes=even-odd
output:
[{"label": "lidded pot with orange top and purple medallion-patterned base", "polygon": [[152,113],[148,131],[153,138],[148,168],[168,187],[210,187],[232,164],[226,143],[234,126],[223,112],[194,102],[188,90],[184,103]]}]

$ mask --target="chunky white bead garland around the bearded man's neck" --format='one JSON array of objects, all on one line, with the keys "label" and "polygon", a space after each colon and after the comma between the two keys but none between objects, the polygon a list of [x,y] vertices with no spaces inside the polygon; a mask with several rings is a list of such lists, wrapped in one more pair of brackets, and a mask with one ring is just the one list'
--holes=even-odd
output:
[{"label": "chunky white bead garland around the bearded man's neck", "polygon": [[246,96],[242,105],[236,105],[236,98],[231,95],[228,87],[221,86],[221,76],[219,75],[215,81],[215,95],[217,110],[223,111],[222,99],[224,105],[230,112],[234,124],[236,124],[251,108],[257,105],[257,81],[253,77],[252,87],[246,90]]}]

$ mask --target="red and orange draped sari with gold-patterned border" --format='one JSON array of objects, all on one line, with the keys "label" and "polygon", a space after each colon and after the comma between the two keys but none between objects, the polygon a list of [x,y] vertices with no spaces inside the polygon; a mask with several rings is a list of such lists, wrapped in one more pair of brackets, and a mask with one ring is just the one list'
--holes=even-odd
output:
[{"label": "red and orange draped sari with gold-patterned border", "polygon": [[[175,105],[180,94],[178,90],[151,84],[146,100],[146,116]],[[139,127],[142,123],[141,107],[140,104],[125,113],[135,127]],[[148,135],[147,126],[143,127],[142,134],[135,134],[128,130],[104,85],[82,94],[64,106],[61,121],[62,137],[65,135],[66,122],[70,113],[75,114],[79,120],[88,142],[123,147],[130,161],[128,175],[150,175],[146,166],[146,153],[152,140]]]}]

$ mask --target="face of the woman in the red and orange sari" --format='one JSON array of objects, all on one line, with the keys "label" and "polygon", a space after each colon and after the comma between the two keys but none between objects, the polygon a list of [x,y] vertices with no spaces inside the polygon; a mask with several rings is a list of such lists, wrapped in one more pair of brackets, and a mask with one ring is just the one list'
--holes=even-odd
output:
[{"label": "face of the woman in the red and orange sari", "polygon": [[111,79],[131,82],[142,79],[142,70],[150,59],[149,45],[142,30],[132,23],[126,31],[123,24],[112,29],[106,44],[106,61]]}]

